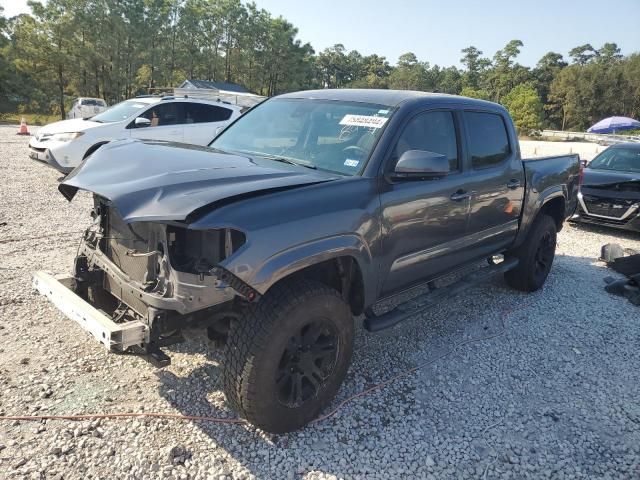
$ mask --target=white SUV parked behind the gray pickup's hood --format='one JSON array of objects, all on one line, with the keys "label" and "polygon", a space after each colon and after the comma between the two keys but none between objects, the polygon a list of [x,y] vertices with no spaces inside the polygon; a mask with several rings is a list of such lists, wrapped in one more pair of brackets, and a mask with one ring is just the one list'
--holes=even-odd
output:
[{"label": "white SUV parked behind the gray pickup's hood", "polygon": [[125,100],[89,119],[42,127],[29,142],[29,157],[69,173],[101,145],[140,138],[207,145],[240,116],[240,107],[188,97]]}]

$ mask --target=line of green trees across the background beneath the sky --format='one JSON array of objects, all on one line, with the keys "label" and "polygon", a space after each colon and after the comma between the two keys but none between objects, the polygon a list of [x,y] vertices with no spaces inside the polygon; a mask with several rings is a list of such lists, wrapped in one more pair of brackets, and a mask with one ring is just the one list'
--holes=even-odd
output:
[{"label": "line of green trees across the background beneath the sky", "polygon": [[504,104],[521,132],[584,130],[610,115],[640,117],[640,53],[615,43],[545,54],[533,68],[512,40],[492,57],[461,51],[462,68],[414,53],[392,65],[337,44],[315,52],[285,19],[241,0],[29,1],[0,7],[0,111],[60,114],[77,96],[109,103],[185,79],[235,82],[262,95],[309,88],[393,88]]}]

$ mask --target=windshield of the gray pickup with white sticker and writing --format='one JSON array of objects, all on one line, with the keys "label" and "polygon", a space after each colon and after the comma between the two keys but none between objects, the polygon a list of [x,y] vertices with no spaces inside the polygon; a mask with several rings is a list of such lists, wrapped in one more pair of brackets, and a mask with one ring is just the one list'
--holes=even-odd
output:
[{"label": "windshield of the gray pickup with white sticker and writing", "polygon": [[356,175],[391,113],[369,103],[276,98],[247,112],[209,146]]}]

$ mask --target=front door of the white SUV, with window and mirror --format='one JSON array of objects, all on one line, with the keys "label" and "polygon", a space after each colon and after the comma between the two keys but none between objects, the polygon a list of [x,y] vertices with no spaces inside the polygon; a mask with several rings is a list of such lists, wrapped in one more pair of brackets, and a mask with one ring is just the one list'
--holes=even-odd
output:
[{"label": "front door of the white SUV, with window and mirror", "polygon": [[135,121],[128,128],[133,138],[150,140],[184,141],[184,114],[180,102],[162,101],[139,115],[151,121],[149,126],[137,126]]}]

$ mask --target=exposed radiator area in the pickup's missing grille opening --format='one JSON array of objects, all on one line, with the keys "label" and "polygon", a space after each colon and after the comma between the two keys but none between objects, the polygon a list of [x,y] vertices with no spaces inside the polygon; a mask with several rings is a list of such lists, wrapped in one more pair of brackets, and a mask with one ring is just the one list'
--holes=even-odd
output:
[{"label": "exposed radiator area in the pickup's missing grille opening", "polygon": [[157,255],[136,256],[155,251],[157,242],[153,240],[155,235],[149,223],[126,224],[110,208],[105,232],[104,253],[123,273],[141,284],[155,278]]}]

